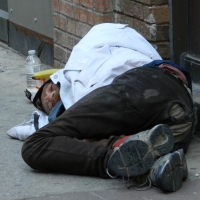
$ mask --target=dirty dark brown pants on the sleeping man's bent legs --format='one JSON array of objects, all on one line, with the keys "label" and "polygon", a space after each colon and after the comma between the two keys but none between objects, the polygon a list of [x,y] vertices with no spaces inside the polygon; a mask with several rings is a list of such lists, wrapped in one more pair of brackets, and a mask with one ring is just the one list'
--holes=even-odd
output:
[{"label": "dirty dark brown pants on the sleeping man's bent legs", "polygon": [[[169,115],[175,103],[184,109],[179,119]],[[22,157],[37,170],[107,177],[111,146],[119,136],[188,121],[194,121],[193,102],[182,82],[164,69],[136,68],[86,95],[31,135]],[[99,142],[83,141],[86,138]],[[180,146],[187,147],[190,138],[191,132]]]}]

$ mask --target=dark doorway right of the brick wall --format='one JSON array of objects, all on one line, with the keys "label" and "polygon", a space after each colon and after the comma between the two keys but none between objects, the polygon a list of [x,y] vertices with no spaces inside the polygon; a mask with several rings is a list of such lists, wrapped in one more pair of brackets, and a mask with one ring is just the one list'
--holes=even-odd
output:
[{"label": "dark doorway right of the brick wall", "polygon": [[200,1],[171,0],[172,60],[200,84]]}]

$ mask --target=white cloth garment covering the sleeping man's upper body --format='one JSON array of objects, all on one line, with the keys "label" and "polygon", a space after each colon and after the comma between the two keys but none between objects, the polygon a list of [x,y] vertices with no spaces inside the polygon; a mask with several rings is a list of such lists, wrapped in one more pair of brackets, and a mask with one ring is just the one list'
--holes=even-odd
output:
[{"label": "white cloth garment covering the sleeping man's upper body", "polygon": [[126,24],[94,26],[73,48],[65,68],[51,76],[61,83],[60,95],[68,109],[96,88],[122,73],[152,60],[161,60],[155,48]]}]

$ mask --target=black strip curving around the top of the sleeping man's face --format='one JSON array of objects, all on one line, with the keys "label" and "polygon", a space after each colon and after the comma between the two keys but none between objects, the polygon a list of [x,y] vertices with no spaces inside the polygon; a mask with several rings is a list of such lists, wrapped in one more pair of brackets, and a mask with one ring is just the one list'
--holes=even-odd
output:
[{"label": "black strip curving around the top of the sleeping man's face", "polygon": [[51,83],[52,80],[49,79],[47,80],[41,87],[40,89],[37,91],[37,93],[35,94],[35,97],[33,98],[33,105],[38,109],[38,110],[41,110],[42,112],[45,112],[46,111],[44,110],[44,107],[42,105],[42,100],[41,100],[41,95],[42,95],[42,91],[44,89],[44,86]]}]

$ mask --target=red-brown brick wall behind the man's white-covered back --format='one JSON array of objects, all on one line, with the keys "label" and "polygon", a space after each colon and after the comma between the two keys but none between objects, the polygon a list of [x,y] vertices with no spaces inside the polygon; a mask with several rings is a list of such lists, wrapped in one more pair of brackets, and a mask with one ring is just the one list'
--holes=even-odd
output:
[{"label": "red-brown brick wall behind the man's white-covered back", "polygon": [[63,68],[71,50],[93,25],[126,23],[169,58],[168,0],[52,0],[54,67]]}]

